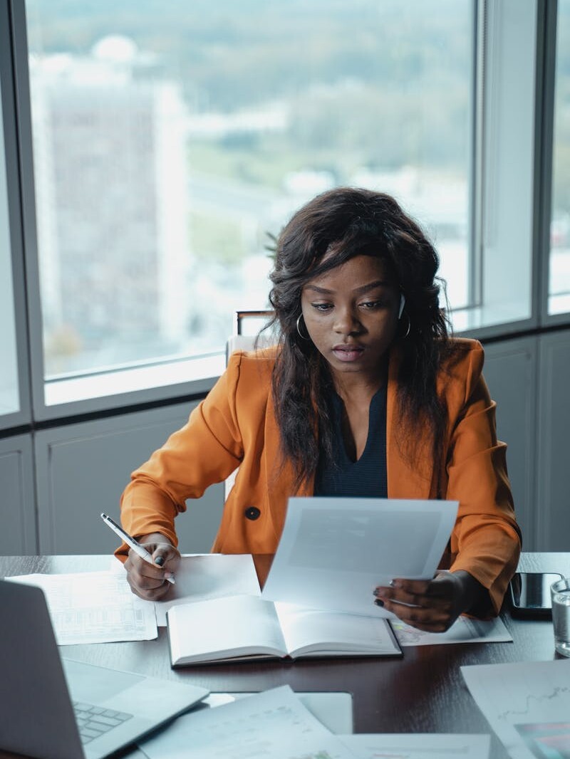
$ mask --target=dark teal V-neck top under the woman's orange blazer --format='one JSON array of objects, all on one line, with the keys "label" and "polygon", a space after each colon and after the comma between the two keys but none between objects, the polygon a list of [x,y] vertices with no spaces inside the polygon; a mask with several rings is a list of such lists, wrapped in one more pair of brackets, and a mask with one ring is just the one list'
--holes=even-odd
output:
[{"label": "dark teal V-neck top under the woman's orange blazer", "polygon": [[369,408],[368,438],[363,455],[351,461],[344,446],[342,417],[344,403],[335,392],[331,404],[334,428],[333,458],[318,462],[315,473],[315,496],[352,496],[387,498],[386,471],[386,383],[372,396]]}]

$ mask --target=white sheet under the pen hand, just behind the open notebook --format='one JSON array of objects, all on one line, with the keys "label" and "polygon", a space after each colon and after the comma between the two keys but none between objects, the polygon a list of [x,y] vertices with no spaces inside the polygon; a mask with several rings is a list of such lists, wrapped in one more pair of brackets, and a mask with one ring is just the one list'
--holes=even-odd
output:
[{"label": "white sheet under the pen hand, just behind the open notebook", "polygon": [[261,595],[251,554],[204,553],[182,556],[176,585],[169,588],[166,598],[143,603],[154,606],[157,625],[166,627],[166,612],[171,606],[237,595]]}]

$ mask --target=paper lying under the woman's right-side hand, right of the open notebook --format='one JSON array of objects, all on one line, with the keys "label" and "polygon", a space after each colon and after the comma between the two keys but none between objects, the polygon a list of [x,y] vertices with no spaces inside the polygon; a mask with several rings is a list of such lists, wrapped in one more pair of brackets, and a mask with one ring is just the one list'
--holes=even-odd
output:
[{"label": "paper lying under the woman's right-side hand, right of the open notebook", "polygon": [[470,619],[460,616],[445,632],[418,630],[400,619],[391,619],[394,635],[401,646],[434,646],[444,643],[507,643],[512,635],[500,617]]}]

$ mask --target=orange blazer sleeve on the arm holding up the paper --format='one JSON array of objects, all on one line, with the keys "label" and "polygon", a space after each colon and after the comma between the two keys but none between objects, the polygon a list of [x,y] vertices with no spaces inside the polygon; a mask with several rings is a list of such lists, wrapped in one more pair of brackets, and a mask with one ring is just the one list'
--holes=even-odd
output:
[{"label": "orange blazer sleeve on the arm holding up the paper", "polygon": [[473,613],[490,616],[499,613],[517,567],[521,531],[508,481],[507,446],[497,440],[496,404],[482,370],[483,348],[477,343],[458,365],[463,390],[451,401],[447,498],[458,500],[459,509],[448,559],[451,571],[464,569],[488,589],[491,606]]}]

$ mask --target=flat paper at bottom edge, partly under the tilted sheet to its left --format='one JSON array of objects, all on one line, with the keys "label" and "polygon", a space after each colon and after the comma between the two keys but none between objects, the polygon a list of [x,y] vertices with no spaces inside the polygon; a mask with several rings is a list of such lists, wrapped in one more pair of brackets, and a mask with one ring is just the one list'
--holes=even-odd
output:
[{"label": "flat paper at bottom edge, partly under the tilted sheet to its left", "polygon": [[371,733],[340,735],[356,759],[487,759],[490,735]]}]

